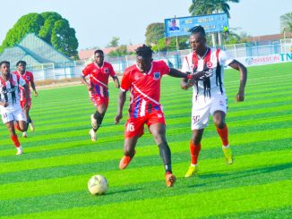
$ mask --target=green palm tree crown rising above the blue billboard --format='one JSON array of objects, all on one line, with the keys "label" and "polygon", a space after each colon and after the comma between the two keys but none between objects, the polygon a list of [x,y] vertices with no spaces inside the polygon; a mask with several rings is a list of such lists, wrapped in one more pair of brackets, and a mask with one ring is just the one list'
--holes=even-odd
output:
[{"label": "green palm tree crown rising above the blue billboard", "polygon": [[228,2],[239,3],[239,0],[192,0],[189,13],[193,16],[211,13],[226,13],[230,18]]}]

